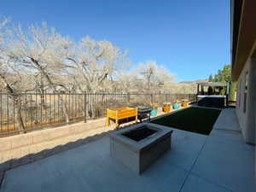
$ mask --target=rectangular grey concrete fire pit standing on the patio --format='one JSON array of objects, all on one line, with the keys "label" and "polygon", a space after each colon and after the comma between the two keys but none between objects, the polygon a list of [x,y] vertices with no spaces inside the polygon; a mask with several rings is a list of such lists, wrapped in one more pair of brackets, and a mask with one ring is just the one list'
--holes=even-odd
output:
[{"label": "rectangular grey concrete fire pit standing on the patio", "polygon": [[113,131],[109,137],[110,155],[141,174],[171,148],[172,130],[162,125],[142,123]]}]

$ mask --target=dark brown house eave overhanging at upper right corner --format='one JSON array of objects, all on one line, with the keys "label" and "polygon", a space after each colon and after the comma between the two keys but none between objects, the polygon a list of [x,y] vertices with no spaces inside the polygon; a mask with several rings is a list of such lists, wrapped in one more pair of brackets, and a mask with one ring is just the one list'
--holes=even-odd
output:
[{"label": "dark brown house eave overhanging at upper right corner", "polygon": [[256,39],[256,1],[231,0],[232,80],[236,81],[247,59],[253,54]]}]

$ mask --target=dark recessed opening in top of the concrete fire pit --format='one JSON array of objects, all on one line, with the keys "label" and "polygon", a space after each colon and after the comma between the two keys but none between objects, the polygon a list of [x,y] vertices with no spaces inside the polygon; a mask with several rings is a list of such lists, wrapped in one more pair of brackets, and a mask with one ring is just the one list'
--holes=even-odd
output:
[{"label": "dark recessed opening in top of the concrete fire pit", "polygon": [[143,127],[137,128],[135,130],[125,132],[122,135],[125,137],[128,137],[134,141],[139,142],[146,137],[152,136],[156,132],[157,132],[156,130],[150,129],[150,128],[148,128],[148,126],[143,126]]}]

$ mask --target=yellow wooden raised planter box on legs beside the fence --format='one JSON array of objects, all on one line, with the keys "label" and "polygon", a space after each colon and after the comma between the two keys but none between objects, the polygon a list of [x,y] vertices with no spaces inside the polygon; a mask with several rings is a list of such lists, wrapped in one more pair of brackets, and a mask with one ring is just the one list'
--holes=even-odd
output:
[{"label": "yellow wooden raised planter box on legs beside the fence", "polygon": [[135,117],[137,122],[137,108],[112,108],[107,109],[107,126],[109,126],[109,119],[114,119],[115,125],[119,126],[119,119],[128,119]]}]

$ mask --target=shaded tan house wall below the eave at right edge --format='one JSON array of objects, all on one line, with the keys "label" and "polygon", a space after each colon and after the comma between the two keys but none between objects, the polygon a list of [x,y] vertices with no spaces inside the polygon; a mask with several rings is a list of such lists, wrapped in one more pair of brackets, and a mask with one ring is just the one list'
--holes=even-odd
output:
[{"label": "shaded tan house wall below the eave at right edge", "polygon": [[[247,61],[238,79],[236,100],[236,114],[241,126],[242,135],[247,143],[255,144],[255,118],[256,118],[256,58]],[[247,80],[247,104],[244,112],[244,92],[246,73]]]}]

